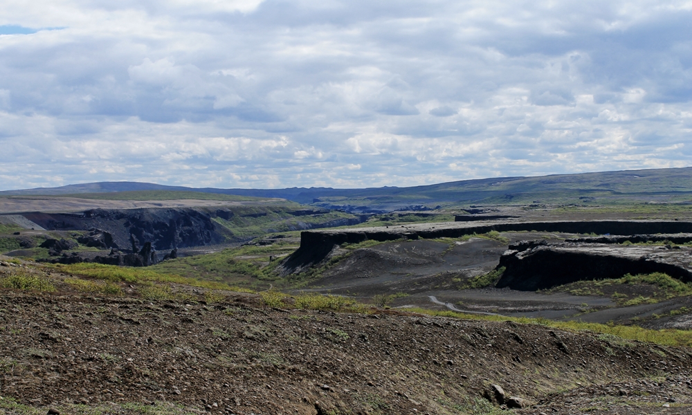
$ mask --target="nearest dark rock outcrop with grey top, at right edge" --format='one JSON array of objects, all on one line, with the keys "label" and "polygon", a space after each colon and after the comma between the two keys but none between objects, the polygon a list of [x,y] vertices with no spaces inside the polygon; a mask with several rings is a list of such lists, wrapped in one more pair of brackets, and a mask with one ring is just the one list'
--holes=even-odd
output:
[{"label": "nearest dark rock outcrop with grey top, at right edge", "polygon": [[500,258],[498,268],[505,270],[497,287],[536,291],[581,280],[655,272],[692,282],[691,253],[688,247],[521,241]]}]

